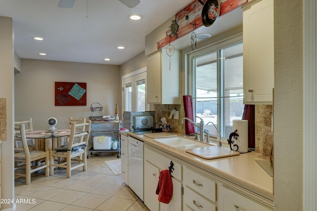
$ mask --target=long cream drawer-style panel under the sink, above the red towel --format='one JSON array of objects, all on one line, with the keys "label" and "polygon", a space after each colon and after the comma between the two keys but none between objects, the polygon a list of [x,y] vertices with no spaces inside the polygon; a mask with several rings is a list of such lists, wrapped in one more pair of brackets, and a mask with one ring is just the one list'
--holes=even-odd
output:
[{"label": "long cream drawer-style panel under the sink, above the red towel", "polygon": [[170,166],[170,162],[172,161],[174,164],[174,170],[171,175],[178,180],[182,179],[182,166],[180,164],[164,157],[163,155],[160,155],[157,152],[150,150],[146,146],[144,147],[144,159],[159,167],[159,169],[161,170],[168,169],[168,167]]}]

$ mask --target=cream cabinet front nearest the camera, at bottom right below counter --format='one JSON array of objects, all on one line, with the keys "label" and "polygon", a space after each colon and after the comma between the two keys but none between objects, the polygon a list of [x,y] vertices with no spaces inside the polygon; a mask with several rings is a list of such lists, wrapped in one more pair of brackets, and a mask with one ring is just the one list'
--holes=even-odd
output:
[{"label": "cream cabinet front nearest the camera, at bottom right below counter", "polygon": [[272,211],[222,185],[218,185],[217,211]]}]

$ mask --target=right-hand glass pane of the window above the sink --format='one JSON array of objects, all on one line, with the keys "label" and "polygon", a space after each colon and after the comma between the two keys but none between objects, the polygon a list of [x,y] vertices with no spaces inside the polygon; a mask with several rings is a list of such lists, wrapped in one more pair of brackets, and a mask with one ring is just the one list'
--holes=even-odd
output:
[{"label": "right-hand glass pane of the window above the sink", "polygon": [[[243,114],[243,45],[242,43],[220,50],[220,67],[224,80],[223,137],[232,132],[232,120],[241,120]],[[229,98],[230,97],[230,98]]]}]

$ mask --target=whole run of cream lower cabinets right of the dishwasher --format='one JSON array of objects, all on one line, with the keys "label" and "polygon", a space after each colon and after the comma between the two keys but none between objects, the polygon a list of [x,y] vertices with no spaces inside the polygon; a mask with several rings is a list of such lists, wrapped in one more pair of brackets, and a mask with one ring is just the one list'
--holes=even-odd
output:
[{"label": "whole run of cream lower cabinets right of the dishwasher", "polygon": [[[242,187],[231,188],[230,181],[175,159],[144,146],[144,204],[150,211],[273,211],[271,200],[250,190],[244,192]],[[169,204],[164,204],[159,202],[156,189],[159,172],[168,169],[170,162],[174,164],[173,195]]]}]

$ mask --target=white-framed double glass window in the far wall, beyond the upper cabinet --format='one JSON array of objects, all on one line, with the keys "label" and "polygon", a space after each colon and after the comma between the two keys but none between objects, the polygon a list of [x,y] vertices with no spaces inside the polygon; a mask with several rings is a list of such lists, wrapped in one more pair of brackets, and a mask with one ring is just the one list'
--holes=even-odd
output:
[{"label": "white-framed double glass window in the far wall, beyond the upper cabinet", "polygon": [[146,69],[135,71],[122,77],[123,111],[146,111]]}]

